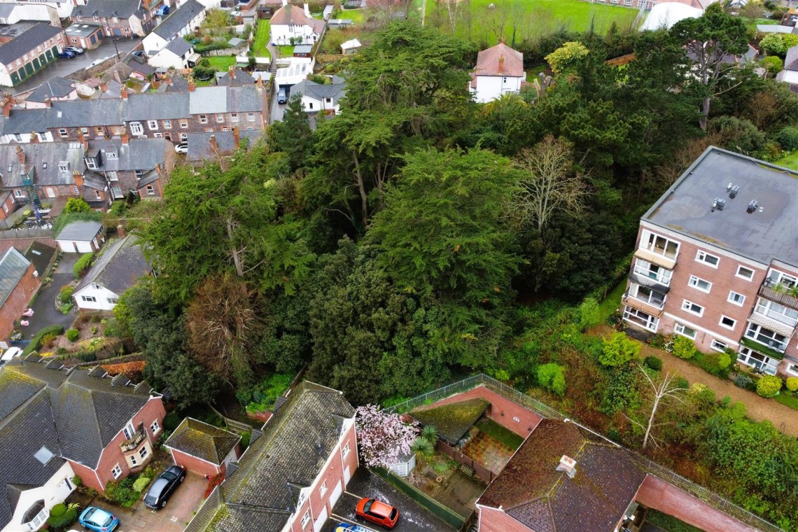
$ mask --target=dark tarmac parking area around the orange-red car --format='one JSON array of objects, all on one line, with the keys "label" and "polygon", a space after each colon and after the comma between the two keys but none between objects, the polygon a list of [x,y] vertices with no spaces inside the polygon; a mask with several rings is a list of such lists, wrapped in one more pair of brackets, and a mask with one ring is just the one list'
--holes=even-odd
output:
[{"label": "dark tarmac parking area around the orange-red car", "polygon": [[[379,526],[370,525],[354,514],[354,507],[362,497],[374,497],[387,502],[399,510],[399,521],[393,532],[452,532],[452,527],[441,521],[431,512],[422,508],[417,502],[407,495],[397,491],[385,480],[365,467],[358,467],[346,491],[338,499],[333,508],[333,515],[322,527],[322,532],[332,532],[338,522],[357,522],[359,525],[368,526],[373,530],[381,530]],[[340,517],[342,519],[336,519]]]}]

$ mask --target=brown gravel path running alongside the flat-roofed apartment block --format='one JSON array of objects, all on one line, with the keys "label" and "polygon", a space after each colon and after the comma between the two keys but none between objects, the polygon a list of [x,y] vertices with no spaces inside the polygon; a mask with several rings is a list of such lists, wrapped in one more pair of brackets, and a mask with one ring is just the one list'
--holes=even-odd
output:
[{"label": "brown gravel path running alongside the flat-roofed apartment block", "polygon": [[[601,337],[608,336],[610,332],[611,329],[607,325],[591,330],[591,333]],[[661,358],[663,372],[677,373],[689,380],[690,383],[700,382],[705,384],[707,388],[715,392],[718,400],[724,396],[729,396],[734,402],[739,401],[745,404],[745,412],[752,420],[769,420],[780,432],[798,437],[798,410],[776,403],[775,400],[757,396],[754,392],[738,388],[731,380],[719,379],[717,376],[710,375],[688,361],[681,360],[679,357],[674,357],[674,355],[650,345],[642,344],[640,356]]]}]

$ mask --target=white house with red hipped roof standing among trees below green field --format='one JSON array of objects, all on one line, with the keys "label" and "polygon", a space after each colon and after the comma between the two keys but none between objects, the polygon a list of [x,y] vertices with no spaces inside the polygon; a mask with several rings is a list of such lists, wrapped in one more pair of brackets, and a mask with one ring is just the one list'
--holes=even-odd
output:
[{"label": "white house with red hipped roof standing among trees below green field", "polygon": [[525,80],[523,53],[505,45],[502,39],[498,45],[479,53],[468,89],[477,103],[484,104],[504,94],[519,93]]}]

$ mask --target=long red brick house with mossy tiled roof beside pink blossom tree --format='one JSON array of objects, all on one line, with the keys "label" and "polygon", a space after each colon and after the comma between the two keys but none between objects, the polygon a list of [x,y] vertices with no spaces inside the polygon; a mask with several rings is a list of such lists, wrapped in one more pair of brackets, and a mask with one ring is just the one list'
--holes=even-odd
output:
[{"label": "long red brick house with mossy tiled roof beside pink blossom tree", "polygon": [[358,467],[354,408],[303,382],[253,432],[235,471],[186,530],[320,530]]}]

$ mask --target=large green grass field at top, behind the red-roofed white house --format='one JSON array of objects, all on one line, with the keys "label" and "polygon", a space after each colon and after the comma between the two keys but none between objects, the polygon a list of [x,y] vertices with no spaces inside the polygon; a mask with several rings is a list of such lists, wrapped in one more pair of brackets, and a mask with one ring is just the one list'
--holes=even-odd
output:
[{"label": "large green grass field at top, behind the red-roofed white house", "polygon": [[[556,30],[585,31],[591,26],[599,33],[606,33],[613,22],[617,23],[619,29],[626,29],[633,26],[638,15],[638,10],[631,8],[591,4],[582,0],[508,0],[503,3],[495,0],[472,0],[468,4],[471,16],[460,17],[456,33],[472,41],[496,44],[499,39],[491,30],[491,20],[500,19],[496,9],[501,7],[488,8],[492,3],[508,6],[504,8],[509,10],[505,20],[522,21],[516,26],[516,41],[541,37]],[[414,2],[413,6],[415,5]],[[448,31],[448,14],[443,3],[438,6],[435,0],[427,0],[425,25],[438,26],[441,31]],[[512,22],[505,23],[504,37],[508,44],[512,33]]]}]

